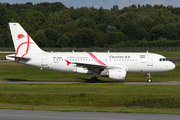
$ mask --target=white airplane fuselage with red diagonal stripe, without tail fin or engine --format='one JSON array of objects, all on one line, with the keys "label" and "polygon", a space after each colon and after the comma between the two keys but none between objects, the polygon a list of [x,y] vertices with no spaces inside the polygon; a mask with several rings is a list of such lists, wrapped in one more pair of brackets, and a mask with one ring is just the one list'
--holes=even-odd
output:
[{"label": "white airplane fuselage with red diagonal stripe, without tail fin or engine", "polygon": [[[153,53],[31,53],[26,57],[31,58],[28,62],[19,63],[58,72],[77,72],[80,67],[74,63],[85,63],[92,65],[123,67],[127,73],[158,73],[166,72],[175,68],[174,63],[168,61],[164,56]],[[12,60],[12,58],[11,58]],[[67,62],[72,62],[67,65]],[[83,73],[83,72],[79,72]],[[84,72],[86,73],[86,72]]]}]

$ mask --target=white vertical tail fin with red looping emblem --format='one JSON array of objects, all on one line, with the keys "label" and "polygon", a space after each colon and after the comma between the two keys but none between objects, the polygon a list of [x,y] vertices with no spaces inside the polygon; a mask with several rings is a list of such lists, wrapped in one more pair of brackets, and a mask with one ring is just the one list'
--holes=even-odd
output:
[{"label": "white vertical tail fin with red looping emblem", "polygon": [[11,35],[14,43],[14,48],[17,56],[24,57],[28,53],[44,52],[27,32],[21,27],[19,23],[9,23]]}]

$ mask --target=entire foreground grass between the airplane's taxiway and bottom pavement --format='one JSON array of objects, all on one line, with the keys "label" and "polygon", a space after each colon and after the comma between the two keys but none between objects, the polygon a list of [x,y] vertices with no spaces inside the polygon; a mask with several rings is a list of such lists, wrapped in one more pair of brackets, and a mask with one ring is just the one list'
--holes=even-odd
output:
[{"label": "entire foreground grass between the airplane's taxiway and bottom pavement", "polygon": [[0,84],[0,108],[180,114],[179,93],[178,85]]}]

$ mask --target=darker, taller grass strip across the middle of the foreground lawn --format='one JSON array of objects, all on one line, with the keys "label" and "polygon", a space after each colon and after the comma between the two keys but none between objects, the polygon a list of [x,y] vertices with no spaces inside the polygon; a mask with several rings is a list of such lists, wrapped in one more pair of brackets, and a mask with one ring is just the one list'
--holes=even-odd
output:
[{"label": "darker, taller grass strip across the middle of the foreground lawn", "polygon": [[29,105],[180,108],[180,96],[97,94],[0,94],[0,102]]}]

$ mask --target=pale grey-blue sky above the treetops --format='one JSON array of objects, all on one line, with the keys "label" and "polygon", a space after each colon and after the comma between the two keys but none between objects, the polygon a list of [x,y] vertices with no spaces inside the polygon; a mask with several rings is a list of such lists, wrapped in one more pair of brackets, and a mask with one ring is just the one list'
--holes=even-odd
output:
[{"label": "pale grey-blue sky above the treetops", "polygon": [[118,5],[120,9],[128,7],[132,4],[140,5],[155,5],[163,4],[164,6],[172,5],[173,7],[180,7],[180,0],[0,0],[1,3],[26,3],[32,2],[33,4],[41,2],[62,2],[65,6],[74,8],[92,7],[95,8],[103,7],[104,9],[111,9],[113,5]]}]

